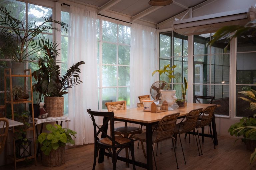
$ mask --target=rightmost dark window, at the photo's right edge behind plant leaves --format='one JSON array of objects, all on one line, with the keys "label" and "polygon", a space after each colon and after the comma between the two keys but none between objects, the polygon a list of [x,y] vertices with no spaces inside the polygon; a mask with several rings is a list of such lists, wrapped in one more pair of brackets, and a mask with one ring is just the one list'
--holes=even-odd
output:
[{"label": "rightmost dark window, at the photo's right edge behind plant leaves", "polygon": [[[255,114],[256,101],[256,29],[247,31],[237,38],[236,66],[236,116]],[[246,92],[246,93],[244,93]],[[249,100],[251,102],[249,102]]]}]

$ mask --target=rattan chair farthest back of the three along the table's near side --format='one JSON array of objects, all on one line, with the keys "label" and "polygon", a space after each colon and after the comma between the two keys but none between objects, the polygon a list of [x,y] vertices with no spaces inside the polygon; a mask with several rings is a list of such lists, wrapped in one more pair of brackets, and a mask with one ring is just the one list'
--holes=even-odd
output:
[{"label": "rattan chair farthest back of the three along the table's near side", "polygon": [[[214,115],[214,110],[216,109],[216,107],[217,107],[217,105],[212,105],[212,106],[206,107],[204,109],[204,111],[201,113],[201,116],[200,116],[201,119],[197,121],[197,125],[196,125],[196,131],[197,131],[198,139],[199,139],[198,128],[209,126],[214,149],[215,149],[215,144],[214,144],[214,139],[213,139],[213,135],[212,135],[211,122],[212,122],[212,118],[213,118],[213,115]],[[201,147],[200,140],[199,140],[199,145],[200,145],[201,155],[202,155],[203,152],[202,152],[202,147]]]}]

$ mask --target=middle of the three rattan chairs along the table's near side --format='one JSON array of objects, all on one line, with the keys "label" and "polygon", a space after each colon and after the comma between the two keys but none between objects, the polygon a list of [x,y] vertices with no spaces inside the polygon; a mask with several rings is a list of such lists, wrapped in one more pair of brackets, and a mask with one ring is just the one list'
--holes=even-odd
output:
[{"label": "middle of the three rattan chairs along the table's near side", "polygon": [[[199,114],[202,111],[202,109],[203,108],[191,110],[186,115],[186,117],[184,117],[181,120],[181,122],[179,124],[176,124],[176,127],[175,127],[174,133],[176,134],[176,136],[177,136],[177,134],[179,135],[180,145],[181,145],[181,149],[182,149],[182,153],[183,153],[185,164],[186,164],[186,159],[185,159],[185,155],[184,155],[184,151],[183,151],[183,147],[182,147],[182,142],[181,142],[180,134],[189,132],[189,131],[194,130],[196,128],[198,117],[199,117]],[[196,137],[196,135],[195,135],[195,137]],[[177,142],[176,142],[176,144],[177,144]],[[198,142],[197,142],[197,137],[196,137],[196,144],[197,144],[197,149],[198,149],[198,153],[199,153],[199,156],[200,156]]]}]

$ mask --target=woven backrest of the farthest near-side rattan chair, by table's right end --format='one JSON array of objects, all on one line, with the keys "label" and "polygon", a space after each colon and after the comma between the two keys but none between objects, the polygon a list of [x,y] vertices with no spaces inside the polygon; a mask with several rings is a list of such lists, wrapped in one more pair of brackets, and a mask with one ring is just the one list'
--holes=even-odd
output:
[{"label": "woven backrest of the farthest near-side rattan chair, by table's right end", "polygon": [[200,122],[200,127],[204,127],[209,125],[212,122],[212,117],[214,114],[214,110],[216,109],[217,105],[208,106],[204,109],[202,113],[202,118]]}]

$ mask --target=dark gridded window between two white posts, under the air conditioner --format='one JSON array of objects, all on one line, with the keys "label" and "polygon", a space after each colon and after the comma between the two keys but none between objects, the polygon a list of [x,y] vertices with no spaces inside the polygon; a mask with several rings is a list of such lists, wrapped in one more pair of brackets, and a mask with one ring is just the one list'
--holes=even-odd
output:
[{"label": "dark gridded window between two white posts, under the air conditioner", "polygon": [[[229,115],[230,52],[224,52],[226,40],[207,46],[214,33],[194,36],[193,95],[215,96],[213,104],[220,104],[216,114]],[[207,101],[202,101],[207,103]]]}]

